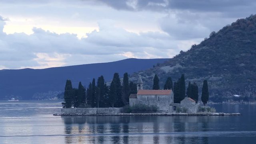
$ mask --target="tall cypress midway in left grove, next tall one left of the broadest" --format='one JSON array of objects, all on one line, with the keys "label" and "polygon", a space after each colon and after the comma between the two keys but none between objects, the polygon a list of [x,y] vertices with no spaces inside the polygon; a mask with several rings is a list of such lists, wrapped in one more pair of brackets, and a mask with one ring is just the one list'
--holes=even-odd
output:
[{"label": "tall cypress midway in left grove, next tall one left of the broadest", "polygon": [[97,87],[100,89],[99,107],[103,107],[104,106],[104,97],[106,95],[105,80],[104,80],[103,76],[98,77]]}]

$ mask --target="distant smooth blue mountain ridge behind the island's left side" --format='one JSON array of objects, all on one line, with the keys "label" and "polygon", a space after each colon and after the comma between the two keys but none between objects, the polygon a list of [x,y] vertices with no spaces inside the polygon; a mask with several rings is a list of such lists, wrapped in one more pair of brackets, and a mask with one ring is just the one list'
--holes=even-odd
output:
[{"label": "distant smooth blue mountain ridge behind the island's left side", "polygon": [[132,74],[139,70],[146,70],[166,60],[168,59],[130,58],[116,62],[46,69],[0,70],[0,99],[52,98],[64,91],[67,79],[72,81],[73,87],[78,87],[81,81],[87,88],[93,78],[97,80],[101,75],[109,81],[115,72],[122,77],[125,72]]}]

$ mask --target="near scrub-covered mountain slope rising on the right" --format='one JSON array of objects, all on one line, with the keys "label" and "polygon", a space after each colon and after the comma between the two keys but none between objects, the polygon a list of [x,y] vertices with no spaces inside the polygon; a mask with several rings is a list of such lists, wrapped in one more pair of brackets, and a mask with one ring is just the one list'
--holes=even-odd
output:
[{"label": "near scrub-covered mountain slope rising on the right", "polygon": [[158,74],[162,88],[168,76],[177,81],[185,74],[186,86],[189,81],[196,82],[200,90],[203,80],[208,80],[211,100],[234,94],[256,98],[256,15],[212,32],[190,50],[155,68],[134,73],[130,79],[136,81],[138,74],[146,88],[152,88],[154,74]]}]

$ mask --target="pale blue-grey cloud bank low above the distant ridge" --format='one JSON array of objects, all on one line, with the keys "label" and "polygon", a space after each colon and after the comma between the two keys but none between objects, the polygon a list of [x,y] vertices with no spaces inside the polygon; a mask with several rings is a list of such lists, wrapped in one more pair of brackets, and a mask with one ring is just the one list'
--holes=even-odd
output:
[{"label": "pale blue-grey cloud bank low above the distant ridge", "polygon": [[[0,27],[5,22],[1,18]],[[44,68],[108,62],[130,58],[167,58],[174,56],[176,43],[161,32],[128,32],[112,20],[99,22],[99,30],[86,38],[76,34],[56,34],[33,28],[33,34],[0,32],[1,68]],[[170,50],[172,50],[171,53]],[[131,54],[131,55],[127,55]]]}]

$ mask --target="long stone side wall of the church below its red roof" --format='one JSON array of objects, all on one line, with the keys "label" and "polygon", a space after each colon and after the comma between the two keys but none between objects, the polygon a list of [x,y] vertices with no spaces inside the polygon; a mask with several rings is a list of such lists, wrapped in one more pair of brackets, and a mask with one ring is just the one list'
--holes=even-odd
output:
[{"label": "long stone side wall of the church below its red roof", "polygon": [[138,104],[156,105],[158,111],[168,112],[172,98],[170,95],[137,95]]}]

